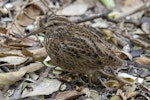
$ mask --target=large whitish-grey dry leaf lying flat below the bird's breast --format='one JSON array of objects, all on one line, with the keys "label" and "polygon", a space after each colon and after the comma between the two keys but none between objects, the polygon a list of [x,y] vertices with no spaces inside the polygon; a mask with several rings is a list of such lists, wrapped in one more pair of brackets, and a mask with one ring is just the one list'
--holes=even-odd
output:
[{"label": "large whitish-grey dry leaf lying flat below the bird's breast", "polygon": [[21,95],[22,98],[37,95],[49,95],[59,90],[61,82],[56,79],[42,78],[36,83],[30,84],[33,91],[25,89]]}]

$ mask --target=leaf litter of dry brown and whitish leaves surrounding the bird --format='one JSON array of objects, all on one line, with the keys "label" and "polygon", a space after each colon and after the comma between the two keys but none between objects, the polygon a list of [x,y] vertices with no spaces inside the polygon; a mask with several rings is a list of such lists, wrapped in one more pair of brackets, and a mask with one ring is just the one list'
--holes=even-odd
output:
[{"label": "leaf litter of dry brown and whitish leaves surrounding the bird", "polygon": [[[43,2],[46,2],[46,5]],[[31,36],[21,39],[38,27],[40,17],[51,13],[50,9],[58,15],[68,16],[68,19],[73,22],[80,22],[84,18],[96,16],[99,13],[105,15],[108,11],[106,8],[109,8],[112,9],[107,13],[109,17],[99,16],[99,20],[91,17],[84,23],[81,21],[82,24],[101,29],[102,39],[110,44],[108,46],[120,58],[150,67],[147,5],[150,5],[149,1],[141,0],[137,0],[136,5],[132,0],[111,0],[111,2],[106,0],[74,0],[72,2],[2,0],[0,2],[0,97],[4,100],[32,99],[32,97],[44,98],[44,100],[149,100],[150,71],[148,69],[128,65],[128,68],[117,71],[123,80],[132,84],[123,85],[115,79],[101,77],[107,88],[100,83],[90,87],[87,85],[86,75],[72,75],[63,72],[59,66],[46,72],[47,67],[50,69],[55,67],[51,65],[51,59],[45,60],[48,55],[43,48],[43,34],[40,34],[38,38]],[[124,20],[119,20],[121,18]],[[142,49],[131,50],[131,46]],[[4,70],[5,68],[8,71]],[[61,77],[68,77],[69,81]]]}]

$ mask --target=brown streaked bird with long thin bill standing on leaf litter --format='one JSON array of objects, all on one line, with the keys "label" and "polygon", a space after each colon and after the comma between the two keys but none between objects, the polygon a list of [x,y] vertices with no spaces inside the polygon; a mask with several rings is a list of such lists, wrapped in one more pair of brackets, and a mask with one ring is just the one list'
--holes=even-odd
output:
[{"label": "brown streaked bird with long thin bill standing on leaf litter", "polygon": [[65,17],[51,16],[29,35],[40,32],[45,33],[44,47],[51,63],[65,71],[92,74],[105,66],[124,65],[98,34]]}]

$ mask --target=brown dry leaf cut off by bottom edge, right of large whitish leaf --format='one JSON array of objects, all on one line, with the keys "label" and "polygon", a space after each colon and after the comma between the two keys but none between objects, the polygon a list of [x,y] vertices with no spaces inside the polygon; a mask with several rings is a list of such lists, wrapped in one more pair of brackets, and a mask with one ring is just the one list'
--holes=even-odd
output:
[{"label": "brown dry leaf cut off by bottom edge, right of large whitish leaf", "polygon": [[79,95],[82,95],[82,92],[78,92],[76,90],[72,91],[64,91],[60,92],[59,94],[56,95],[56,100],[72,100],[75,97],[78,97]]}]

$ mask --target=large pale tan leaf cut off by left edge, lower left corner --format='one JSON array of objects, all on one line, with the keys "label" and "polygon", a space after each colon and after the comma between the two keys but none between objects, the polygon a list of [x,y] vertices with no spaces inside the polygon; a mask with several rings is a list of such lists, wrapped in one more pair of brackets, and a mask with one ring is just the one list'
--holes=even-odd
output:
[{"label": "large pale tan leaf cut off by left edge, lower left corner", "polygon": [[26,71],[0,73],[0,88],[14,84],[16,81],[20,80],[25,73]]}]

